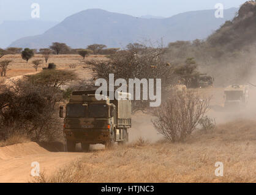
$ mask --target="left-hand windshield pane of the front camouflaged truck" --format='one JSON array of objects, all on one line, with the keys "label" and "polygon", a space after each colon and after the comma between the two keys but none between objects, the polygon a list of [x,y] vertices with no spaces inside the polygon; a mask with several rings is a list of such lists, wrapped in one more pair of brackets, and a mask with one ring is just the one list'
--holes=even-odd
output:
[{"label": "left-hand windshield pane of the front camouflaged truck", "polygon": [[67,117],[70,118],[85,118],[86,106],[82,104],[68,104],[67,105]]}]

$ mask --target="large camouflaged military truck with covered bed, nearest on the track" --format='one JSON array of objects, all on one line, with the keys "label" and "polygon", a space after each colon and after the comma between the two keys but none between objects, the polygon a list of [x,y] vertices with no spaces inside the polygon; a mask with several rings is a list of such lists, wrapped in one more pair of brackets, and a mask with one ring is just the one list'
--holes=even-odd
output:
[{"label": "large camouflaged military truck with covered bed, nearest on the track", "polygon": [[[108,96],[96,94],[96,91],[73,91],[69,103],[59,109],[64,118],[64,137],[67,151],[74,152],[77,143],[83,151],[89,150],[89,144],[105,144],[111,147],[115,142],[124,144],[129,140],[128,129],[132,126],[131,101],[129,93],[118,93],[111,101]],[[97,100],[96,96],[102,96]]]}]

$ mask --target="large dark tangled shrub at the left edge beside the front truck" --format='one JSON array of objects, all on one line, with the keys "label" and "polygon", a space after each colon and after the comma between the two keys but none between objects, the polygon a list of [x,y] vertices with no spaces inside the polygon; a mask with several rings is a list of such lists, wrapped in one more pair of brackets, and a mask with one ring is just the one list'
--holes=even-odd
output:
[{"label": "large dark tangled shrub at the left edge beside the front truck", "polygon": [[0,94],[1,139],[15,133],[32,141],[50,141],[59,136],[57,102],[62,100],[59,88],[15,80]]}]

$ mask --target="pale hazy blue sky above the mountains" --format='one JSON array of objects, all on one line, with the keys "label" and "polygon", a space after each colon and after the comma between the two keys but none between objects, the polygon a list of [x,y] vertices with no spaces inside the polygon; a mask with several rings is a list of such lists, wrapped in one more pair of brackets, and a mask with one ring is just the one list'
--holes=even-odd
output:
[{"label": "pale hazy blue sky above the mountains", "polygon": [[104,9],[133,16],[172,16],[192,10],[214,9],[217,3],[224,9],[239,7],[245,0],[0,0],[0,23],[4,20],[31,18],[31,5],[40,5],[40,19],[62,21],[73,13],[86,9]]}]

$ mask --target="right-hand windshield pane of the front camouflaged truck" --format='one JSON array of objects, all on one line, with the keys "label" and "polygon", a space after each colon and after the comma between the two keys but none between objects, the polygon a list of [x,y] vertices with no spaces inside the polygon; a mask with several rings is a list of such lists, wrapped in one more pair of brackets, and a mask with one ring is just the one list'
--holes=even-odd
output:
[{"label": "right-hand windshield pane of the front camouflaged truck", "polygon": [[89,118],[108,118],[108,106],[106,104],[88,105]]}]

